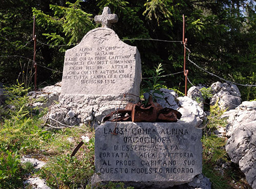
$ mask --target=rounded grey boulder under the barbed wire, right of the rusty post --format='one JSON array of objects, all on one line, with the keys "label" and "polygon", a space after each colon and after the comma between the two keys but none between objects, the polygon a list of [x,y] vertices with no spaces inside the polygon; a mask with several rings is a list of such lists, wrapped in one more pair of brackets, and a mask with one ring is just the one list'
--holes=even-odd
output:
[{"label": "rounded grey boulder under the barbed wire, right of the rusty post", "polygon": [[214,96],[210,100],[210,105],[218,104],[222,109],[234,109],[241,104],[241,94],[234,84],[216,82],[211,85],[211,90]]}]

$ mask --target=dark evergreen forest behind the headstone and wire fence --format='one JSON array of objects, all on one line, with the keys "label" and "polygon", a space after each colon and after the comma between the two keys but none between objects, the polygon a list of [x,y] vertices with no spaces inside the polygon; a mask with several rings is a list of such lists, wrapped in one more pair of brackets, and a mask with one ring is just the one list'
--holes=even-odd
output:
[{"label": "dark evergreen forest behind the headstone and wire fence", "polygon": [[[228,0],[1,0],[0,82],[8,86],[18,80],[33,88],[33,15],[36,17],[38,87],[61,81],[65,51],[89,30],[100,26],[94,22],[94,16],[101,14],[105,6],[119,17],[113,30],[120,39],[181,41],[184,14],[187,48],[193,62],[228,81],[256,84],[256,3]],[[152,76],[153,67],[159,63],[163,64],[165,75],[183,71],[180,42],[124,42],[138,47],[143,77]],[[195,85],[209,86],[221,81],[189,61],[186,68],[189,80]],[[184,92],[182,73],[162,79],[167,87]],[[238,87],[243,101],[256,99],[256,87]]]}]

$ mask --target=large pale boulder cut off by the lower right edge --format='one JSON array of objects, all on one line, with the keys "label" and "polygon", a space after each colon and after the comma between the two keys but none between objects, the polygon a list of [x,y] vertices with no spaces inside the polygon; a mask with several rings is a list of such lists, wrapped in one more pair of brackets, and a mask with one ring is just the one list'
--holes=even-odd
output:
[{"label": "large pale boulder cut off by the lower right edge", "polygon": [[231,161],[238,163],[247,182],[256,188],[256,101],[243,102],[234,110],[227,111],[226,151]]}]

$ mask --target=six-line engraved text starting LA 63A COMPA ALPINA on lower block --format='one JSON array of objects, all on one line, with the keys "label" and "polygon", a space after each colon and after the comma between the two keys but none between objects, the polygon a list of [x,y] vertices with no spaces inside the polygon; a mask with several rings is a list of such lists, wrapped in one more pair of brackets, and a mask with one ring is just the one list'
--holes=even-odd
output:
[{"label": "six-line engraved text starting LA 63A COMPA ALPINA on lower block", "polygon": [[195,132],[191,127],[141,124],[143,127],[120,124],[116,128],[117,135],[112,134],[115,127],[101,128],[101,134],[113,144],[101,150],[96,150],[98,145],[95,146],[96,170],[101,177],[127,174],[127,178],[133,175],[136,179],[146,174],[151,180],[157,174],[160,177],[168,175],[166,179],[179,177],[182,180],[185,175],[195,176],[201,171],[201,152],[195,151],[201,149],[201,142],[198,138],[198,149],[190,144]]}]

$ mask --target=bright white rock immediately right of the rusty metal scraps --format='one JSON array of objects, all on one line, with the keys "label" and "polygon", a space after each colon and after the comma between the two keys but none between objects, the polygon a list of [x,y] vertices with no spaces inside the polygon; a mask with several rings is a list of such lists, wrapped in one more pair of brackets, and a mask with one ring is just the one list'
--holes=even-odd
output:
[{"label": "bright white rock immediately right of the rusty metal scraps", "polygon": [[198,103],[189,97],[178,97],[177,109],[181,114],[181,121],[195,124],[199,127],[204,120],[206,120],[206,115],[203,109],[198,105]]}]

